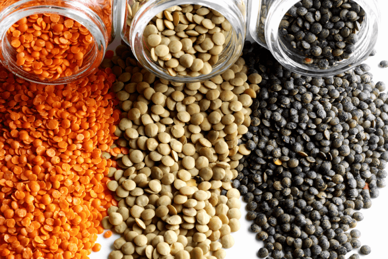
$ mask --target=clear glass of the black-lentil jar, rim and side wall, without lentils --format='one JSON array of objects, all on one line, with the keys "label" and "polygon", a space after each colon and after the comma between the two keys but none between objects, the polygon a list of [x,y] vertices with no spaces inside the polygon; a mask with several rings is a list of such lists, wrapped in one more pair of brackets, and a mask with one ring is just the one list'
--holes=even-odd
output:
[{"label": "clear glass of the black-lentil jar, rim and side wall, without lentils", "polygon": [[276,60],[287,69],[306,76],[333,76],[360,65],[368,58],[377,41],[380,11],[376,0],[354,0],[365,11],[365,18],[357,32],[355,51],[348,59],[336,62],[327,69],[308,65],[306,56],[286,46],[279,35],[279,24],[289,9],[299,0],[250,0],[249,32],[261,46],[269,49]]}]

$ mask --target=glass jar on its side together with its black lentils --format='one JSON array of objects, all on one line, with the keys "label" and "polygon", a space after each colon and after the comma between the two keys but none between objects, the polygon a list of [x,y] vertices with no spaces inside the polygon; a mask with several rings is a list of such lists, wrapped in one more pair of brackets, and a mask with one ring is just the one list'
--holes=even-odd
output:
[{"label": "glass jar on its side together with its black lentils", "polygon": [[252,37],[298,74],[338,75],[367,59],[377,41],[376,0],[250,0],[248,5]]}]

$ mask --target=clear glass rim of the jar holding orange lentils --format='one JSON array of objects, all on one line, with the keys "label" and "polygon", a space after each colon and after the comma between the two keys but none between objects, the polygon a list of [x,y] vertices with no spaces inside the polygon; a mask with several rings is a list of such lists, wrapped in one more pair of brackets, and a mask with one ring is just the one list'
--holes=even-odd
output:
[{"label": "clear glass rim of the jar holding orange lentils", "polygon": [[[67,0],[63,2],[70,4],[70,2]],[[19,7],[20,2],[16,2],[16,4],[17,6],[13,4],[5,8],[1,12],[4,15],[0,15],[0,62],[2,65],[4,65],[5,68],[7,68],[16,76],[27,81],[53,85],[66,84],[76,81],[81,77],[89,75],[95,70],[95,63],[103,59],[107,47],[107,43],[103,34],[104,23],[95,12],[77,2],[71,2],[71,8],[69,8],[70,5],[69,7],[49,5],[31,6],[31,3],[28,1],[23,1],[21,7]],[[55,80],[41,80],[37,75],[31,74],[23,70],[21,66],[16,65],[17,52],[16,49],[14,49],[10,44],[10,37],[7,36],[7,31],[21,18],[43,13],[57,14],[74,19],[75,21],[80,22],[86,29],[88,29],[88,31],[93,36],[93,42],[91,43],[92,47],[85,53],[81,67],[75,74],[69,77],[62,77]],[[86,18],[85,13],[89,17]]]}]

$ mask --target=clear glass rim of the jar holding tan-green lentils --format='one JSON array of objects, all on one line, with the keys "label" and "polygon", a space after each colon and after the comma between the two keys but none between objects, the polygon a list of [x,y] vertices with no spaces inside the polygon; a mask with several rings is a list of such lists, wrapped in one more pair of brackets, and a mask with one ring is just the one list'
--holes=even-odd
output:
[{"label": "clear glass rim of the jar holding tan-green lentils", "polygon": [[[230,25],[232,26],[232,30],[228,34],[228,38],[230,37],[229,42],[226,44],[226,46],[224,46],[224,49],[219,54],[219,60],[217,63],[212,65],[212,71],[209,74],[200,75],[197,77],[180,76],[178,74],[175,77],[169,75],[167,69],[162,68],[158,63],[151,59],[149,49],[147,49],[144,42],[143,32],[148,25],[148,22],[154,16],[177,4],[175,4],[176,2],[171,2],[169,0],[158,1],[156,5],[154,2],[150,3],[150,1],[145,1],[143,3],[143,5],[139,5],[139,10],[136,12],[136,15],[132,19],[132,25],[130,26],[129,30],[129,38],[123,35],[123,39],[127,44],[129,44],[136,59],[159,78],[183,83],[206,81],[216,75],[225,72],[237,61],[238,57],[240,56],[246,33],[246,28],[242,26],[242,24],[244,24],[245,18],[237,15],[238,12],[241,12],[240,9],[236,8],[235,6],[221,6],[219,3],[211,1],[199,1],[195,3],[193,3],[193,1],[181,1],[179,2],[179,5],[199,4],[217,10],[219,13],[225,16],[225,19],[229,21]],[[228,12],[226,12],[226,8],[235,9],[235,15],[228,14]]]}]

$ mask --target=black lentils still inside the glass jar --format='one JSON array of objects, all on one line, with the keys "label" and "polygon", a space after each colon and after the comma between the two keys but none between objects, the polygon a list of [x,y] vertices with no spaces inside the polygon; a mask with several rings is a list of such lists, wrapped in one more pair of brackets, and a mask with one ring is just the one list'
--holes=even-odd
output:
[{"label": "black lentils still inside the glass jar", "polygon": [[321,69],[348,59],[355,51],[365,11],[352,0],[302,0],[285,14],[279,35],[291,49]]}]

